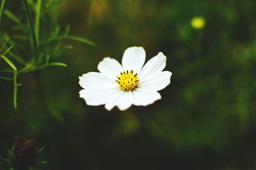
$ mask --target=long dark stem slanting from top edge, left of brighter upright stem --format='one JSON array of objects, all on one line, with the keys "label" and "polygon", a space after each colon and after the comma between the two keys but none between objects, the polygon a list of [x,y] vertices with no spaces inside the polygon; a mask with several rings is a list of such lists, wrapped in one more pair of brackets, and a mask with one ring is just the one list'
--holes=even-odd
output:
[{"label": "long dark stem slanting from top edge, left of brighter upright stem", "polygon": [[35,29],[33,27],[33,20],[32,20],[32,17],[31,17],[31,12],[29,10],[28,1],[27,0],[22,0],[22,1],[23,1],[23,4],[24,4],[24,8],[25,8],[27,18],[28,18],[29,28],[31,30],[32,41],[33,41],[33,45],[34,45],[34,48],[35,48],[35,63],[37,65],[38,64],[39,53],[38,53],[38,43],[37,43],[37,40],[36,40]]}]

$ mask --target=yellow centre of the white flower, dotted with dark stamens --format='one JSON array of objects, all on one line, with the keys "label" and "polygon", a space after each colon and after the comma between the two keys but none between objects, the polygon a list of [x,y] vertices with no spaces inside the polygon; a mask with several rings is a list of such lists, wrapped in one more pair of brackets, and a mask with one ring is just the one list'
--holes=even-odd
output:
[{"label": "yellow centre of the white flower, dotted with dark stamens", "polygon": [[126,70],[126,72],[120,72],[120,75],[116,75],[116,82],[120,89],[124,91],[132,91],[139,86],[139,77],[138,73],[134,73],[133,70],[130,72]]}]

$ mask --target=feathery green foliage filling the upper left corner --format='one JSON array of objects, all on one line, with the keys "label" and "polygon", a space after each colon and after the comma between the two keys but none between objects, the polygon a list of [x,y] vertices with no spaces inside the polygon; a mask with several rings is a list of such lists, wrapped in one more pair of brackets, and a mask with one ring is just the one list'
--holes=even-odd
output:
[{"label": "feathery green foliage filling the upper left corner", "polygon": [[[57,23],[60,1],[22,0],[22,3],[26,20],[20,19],[10,10],[4,8],[5,1],[2,1],[0,8],[0,24],[4,13],[8,19],[13,21],[12,29],[17,30],[17,33],[12,36],[8,35],[8,31],[3,33],[4,30],[0,30],[2,33],[0,56],[11,68],[11,70],[1,70],[1,72],[13,73],[13,78],[0,77],[0,79],[13,81],[13,105],[15,108],[17,108],[17,77],[21,73],[38,72],[48,66],[66,67],[65,63],[51,62],[51,59],[61,56],[63,50],[72,48],[71,45],[62,45],[63,40],[74,40],[94,45],[86,38],[69,35],[69,26],[61,33],[61,27]],[[29,44],[29,46],[25,44]]]}]

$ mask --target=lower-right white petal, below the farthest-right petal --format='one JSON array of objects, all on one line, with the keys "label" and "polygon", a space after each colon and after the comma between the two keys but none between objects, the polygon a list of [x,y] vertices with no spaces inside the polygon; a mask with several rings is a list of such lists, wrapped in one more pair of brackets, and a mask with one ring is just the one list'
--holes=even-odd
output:
[{"label": "lower-right white petal, below the farthest-right petal", "polygon": [[161,99],[161,95],[157,91],[144,91],[142,89],[132,91],[132,100],[134,105],[146,106],[153,104],[159,99]]}]

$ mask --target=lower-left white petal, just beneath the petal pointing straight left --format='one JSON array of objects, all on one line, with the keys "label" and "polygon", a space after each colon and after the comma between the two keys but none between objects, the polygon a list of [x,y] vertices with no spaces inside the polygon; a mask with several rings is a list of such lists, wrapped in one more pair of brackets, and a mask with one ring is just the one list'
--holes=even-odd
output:
[{"label": "lower-left white petal, just beneath the petal pointing straight left", "polygon": [[106,104],[109,96],[114,95],[119,89],[82,89],[79,91],[81,98],[84,98],[87,105]]}]

